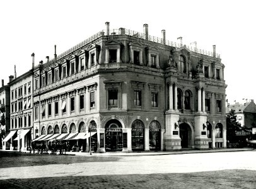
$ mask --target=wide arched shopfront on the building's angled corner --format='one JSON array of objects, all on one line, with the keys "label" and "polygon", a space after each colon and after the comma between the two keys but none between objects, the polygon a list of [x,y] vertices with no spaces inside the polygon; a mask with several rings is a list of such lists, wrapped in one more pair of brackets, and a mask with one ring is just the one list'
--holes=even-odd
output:
[{"label": "wide arched shopfront on the building's angled corner", "polygon": [[106,151],[122,151],[122,124],[118,120],[109,120],[105,125]]}]

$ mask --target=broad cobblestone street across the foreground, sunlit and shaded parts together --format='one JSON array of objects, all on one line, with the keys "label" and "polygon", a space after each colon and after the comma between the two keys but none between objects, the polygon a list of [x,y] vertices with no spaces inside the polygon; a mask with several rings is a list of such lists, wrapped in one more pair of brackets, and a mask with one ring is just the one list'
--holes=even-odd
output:
[{"label": "broad cobblestone street across the foreground, sunlit and shaded parts together", "polygon": [[7,158],[1,156],[0,188],[255,188],[255,157],[256,151],[125,157],[23,154],[9,157],[12,166],[3,166]]}]

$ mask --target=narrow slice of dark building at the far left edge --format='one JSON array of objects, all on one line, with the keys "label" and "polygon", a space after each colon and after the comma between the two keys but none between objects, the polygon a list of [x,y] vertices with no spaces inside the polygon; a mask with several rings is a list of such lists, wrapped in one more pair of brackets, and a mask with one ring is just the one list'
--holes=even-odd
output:
[{"label": "narrow slice of dark building at the far left edge", "polygon": [[9,143],[3,139],[9,134],[10,128],[10,89],[8,85],[4,85],[2,79],[2,87],[0,88],[0,149],[9,149]]}]

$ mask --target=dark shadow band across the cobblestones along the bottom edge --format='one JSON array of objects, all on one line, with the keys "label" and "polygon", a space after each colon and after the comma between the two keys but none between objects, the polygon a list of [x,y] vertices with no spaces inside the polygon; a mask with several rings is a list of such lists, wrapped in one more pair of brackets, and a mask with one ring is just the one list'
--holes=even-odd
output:
[{"label": "dark shadow band across the cobblestones along the bottom edge", "polygon": [[150,175],[61,176],[0,180],[0,188],[255,188],[256,171],[223,170]]}]

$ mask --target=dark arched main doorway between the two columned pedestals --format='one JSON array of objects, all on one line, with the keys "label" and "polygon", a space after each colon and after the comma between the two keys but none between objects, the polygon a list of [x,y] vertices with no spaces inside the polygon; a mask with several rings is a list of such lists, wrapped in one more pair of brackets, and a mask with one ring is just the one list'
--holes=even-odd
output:
[{"label": "dark arched main doorway between the two columned pedestals", "polygon": [[180,124],[180,139],[182,148],[191,147],[191,130],[187,123]]}]

